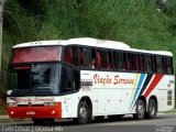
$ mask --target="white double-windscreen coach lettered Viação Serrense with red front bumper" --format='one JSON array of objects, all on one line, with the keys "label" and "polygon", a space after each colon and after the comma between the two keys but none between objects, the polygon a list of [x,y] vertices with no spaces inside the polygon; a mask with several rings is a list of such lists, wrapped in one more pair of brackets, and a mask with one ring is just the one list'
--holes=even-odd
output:
[{"label": "white double-windscreen coach lettered Via\u00e7\u00e3o Serrense with red front bumper", "polygon": [[7,91],[10,118],[34,123],[72,118],[155,118],[175,106],[173,54],[96,38],[13,46]]}]

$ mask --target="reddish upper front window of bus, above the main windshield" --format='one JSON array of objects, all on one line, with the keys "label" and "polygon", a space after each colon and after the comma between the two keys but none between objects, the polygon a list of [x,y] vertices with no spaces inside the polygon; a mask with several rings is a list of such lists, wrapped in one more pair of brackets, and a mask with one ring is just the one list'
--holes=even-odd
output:
[{"label": "reddish upper front window of bus, above the main windshield", "polygon": [[13,63],[61,61],[61,46],[14,48]]}]

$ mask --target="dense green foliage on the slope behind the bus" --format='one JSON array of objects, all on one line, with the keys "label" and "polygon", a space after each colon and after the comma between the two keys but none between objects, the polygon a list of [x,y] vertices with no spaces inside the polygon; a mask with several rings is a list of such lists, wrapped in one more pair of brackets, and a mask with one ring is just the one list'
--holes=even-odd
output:
[{"label": "dense green foliage on the slope behind the bus", "polygon": [[87,36],[176,55],[175,0],[160,9],[155,0],[8,0],[4,10],[3,73],[12,45],[38,40]]}]

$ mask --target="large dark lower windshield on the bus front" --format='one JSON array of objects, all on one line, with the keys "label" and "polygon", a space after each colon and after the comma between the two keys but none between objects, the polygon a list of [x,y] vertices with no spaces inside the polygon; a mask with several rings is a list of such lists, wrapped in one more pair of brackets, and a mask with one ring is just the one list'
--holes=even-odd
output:
[{"label": "large dark lower windshield on the bus front", "polygon": [[58,64],[10,66],[10,95],[56,95],[59,92],[58,75]]}]

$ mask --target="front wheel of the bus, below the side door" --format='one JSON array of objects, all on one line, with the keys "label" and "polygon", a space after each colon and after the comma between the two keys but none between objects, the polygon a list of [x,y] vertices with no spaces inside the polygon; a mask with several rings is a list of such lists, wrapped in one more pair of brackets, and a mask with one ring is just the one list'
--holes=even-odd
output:
[{"label": "front wheel of the bus, below the side door", "polygon": [[78,105],[77,119],[74,119],[79,124],[85,124],[90,120],[90,110],[86,101],[80,101]]}]

